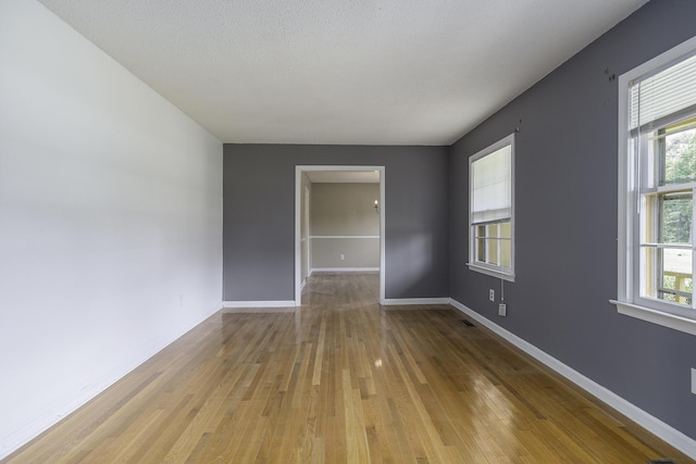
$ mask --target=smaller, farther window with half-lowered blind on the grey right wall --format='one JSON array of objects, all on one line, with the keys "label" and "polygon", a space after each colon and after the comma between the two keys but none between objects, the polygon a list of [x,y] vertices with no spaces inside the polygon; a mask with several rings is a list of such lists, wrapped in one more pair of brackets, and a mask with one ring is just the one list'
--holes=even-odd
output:
[{"label": "smaller, farther window with half-lowered blind on the grey right wall", "polygon": [[514,280],[514,135],[469,159],[469,268]]}]

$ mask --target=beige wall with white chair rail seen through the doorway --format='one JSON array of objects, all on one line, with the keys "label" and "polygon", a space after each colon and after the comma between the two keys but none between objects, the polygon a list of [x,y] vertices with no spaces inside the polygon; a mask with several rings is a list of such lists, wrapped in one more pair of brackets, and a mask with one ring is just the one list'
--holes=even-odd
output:
[{"label": "beige wall with white chair rail seen through the doorway", "polygon": [[[312,268],[378,268],[380,184],[312,185]],[[343,260],[341,260],[343,255]]]}]

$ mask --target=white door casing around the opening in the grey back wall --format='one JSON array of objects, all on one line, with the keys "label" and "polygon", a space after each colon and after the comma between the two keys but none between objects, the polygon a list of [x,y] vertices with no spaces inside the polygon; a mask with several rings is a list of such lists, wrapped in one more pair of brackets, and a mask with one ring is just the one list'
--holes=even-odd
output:
[{"label": "white door casing around the opening in the grey back wall", "polygon": [[[302,275],[309,273],[310,233],[308,230],[309,214],[307,204],[306,178],[318,174],[338,177],[355,175],[357,177],[378,176],[380,198],[374,208],[380,215],[380,304],[385,302],[385,168],[384,166],[296,166],[295,168],[295,305],[302,304]],[[307,263],[308,267],[304,267]]]}]

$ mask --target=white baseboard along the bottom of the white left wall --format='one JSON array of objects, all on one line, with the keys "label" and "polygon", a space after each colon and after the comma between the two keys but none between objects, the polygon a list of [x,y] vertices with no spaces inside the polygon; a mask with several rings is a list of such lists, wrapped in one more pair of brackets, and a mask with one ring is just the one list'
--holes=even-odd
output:
[{"label": "white baseboard along the bottom of the white left wall", "polygon": [[116,381],[121,380],[126,375],[130,374],[138,366],[144,364],[150,358],[157,355],[160,351],[164,350],[166,347],[182,338],[185,334],[196,328],[203,321],[206,321],[211,315],[215,314],[219,310],[214,310],[200,321],[194,323],[192,325],[184,327],[182,330],[178,330],[176,335],[170,337],[167,339],[162,339],[158,343],[154,343],[153,348],[147,351],[144,351],[135,361],[128,363],[127,365],[120,366],[114,369],[112,375],[105,379],[101,379],[101,381],[97,381],[92,385],[89,385],[83,388],[79,391],[79,394],[72,400],[69,400],[62,404],[55,405],[53,407],[49,407],[40,414],[39,417],[27,422],[24,426],[20,427],[14,432],[0,437],[0,461],[5,459],[8,455],[12,454],[69,415],[73,414],[79,407],[87,404],[90,400],[96,398],[98,394],[107,390],[109,387],[114,385]]}]

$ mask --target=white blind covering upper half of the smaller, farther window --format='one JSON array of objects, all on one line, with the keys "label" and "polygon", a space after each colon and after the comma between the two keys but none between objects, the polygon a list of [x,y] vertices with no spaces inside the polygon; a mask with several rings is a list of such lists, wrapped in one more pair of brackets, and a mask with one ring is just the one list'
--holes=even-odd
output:
[{"label": "white blind covering upper half of the smaller, farther window", "polygon": [[509,218],[512,214],[512,148],[510,145],[472,162],[472,224]]}]

